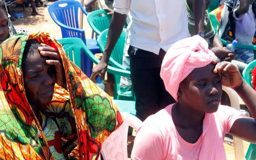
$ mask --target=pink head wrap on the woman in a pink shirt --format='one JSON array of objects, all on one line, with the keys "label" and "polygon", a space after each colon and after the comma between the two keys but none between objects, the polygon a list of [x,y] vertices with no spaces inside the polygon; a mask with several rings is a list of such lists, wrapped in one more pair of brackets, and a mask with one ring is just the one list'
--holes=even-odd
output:
[{"label": "pink head wrap on the woman in a pink shirt", "polygon": [[166,90],[177,101],[177,91],[180,82],[193,69],[207,66],[216,58],[208,49],[208,43],[199,35],[177,41],[168,49],[162,62],[160,76]]}]

